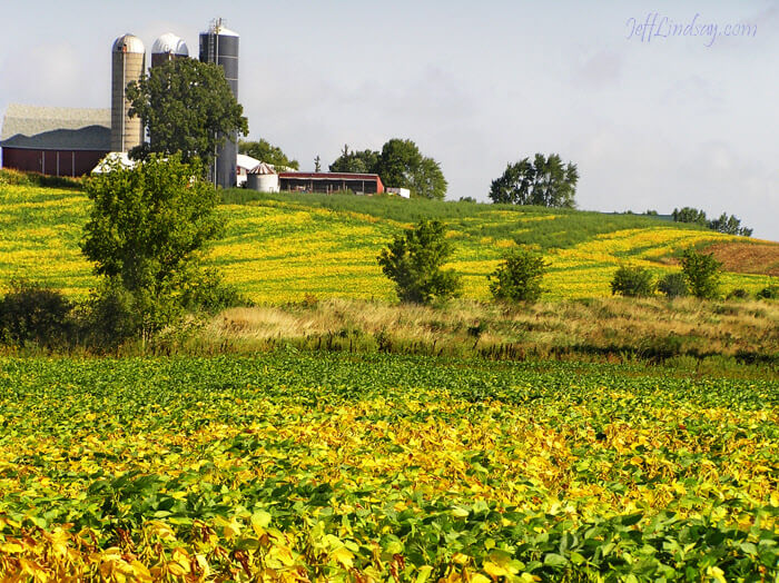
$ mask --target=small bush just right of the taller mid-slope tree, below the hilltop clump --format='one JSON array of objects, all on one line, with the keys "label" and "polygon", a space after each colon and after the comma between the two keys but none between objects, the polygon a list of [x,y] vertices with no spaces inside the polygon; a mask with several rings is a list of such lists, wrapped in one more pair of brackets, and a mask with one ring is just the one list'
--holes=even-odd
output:
[{"label": "small bush just right of the taller mid-slope tree, below the hilltop clump", "polygon": [[549,264],[526,249],[510,253],[490,275],[490,292],[495,299],[535,302],[541,296],[541,280]]}]

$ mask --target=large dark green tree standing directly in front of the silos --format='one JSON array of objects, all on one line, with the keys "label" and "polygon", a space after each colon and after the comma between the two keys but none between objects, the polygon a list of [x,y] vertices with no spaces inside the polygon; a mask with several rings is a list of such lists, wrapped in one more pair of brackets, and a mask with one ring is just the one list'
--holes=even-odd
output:
[{"label": "large dark green tree standing directly in front of the silos", "polygon": [[172,59],[127,86],[130,116],[140,117],[149,144],[134,148],[136,158],[151,152],[199,158],[208,168],[226,136],[248,134],[244,108],[236,101],[218,65]]}]

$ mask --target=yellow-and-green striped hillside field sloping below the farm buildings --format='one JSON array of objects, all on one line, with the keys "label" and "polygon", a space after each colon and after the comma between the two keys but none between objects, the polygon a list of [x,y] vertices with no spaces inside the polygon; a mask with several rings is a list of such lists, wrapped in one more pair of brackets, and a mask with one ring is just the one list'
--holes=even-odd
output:
[{"label": "yellow-and-green striped hillside field sloping below the farm buildings", "polygon": [[[452,267],[464,275],[465,297],[475,299],[489,297],[486,276],[516,244],[533,245],[549,258],[544,297],[550,299],[608,296],[613,271],[624,263],[658,275],[678,269],[674,254],[691,245],[711,246],[730,269],[748,271],[728,273],[726,290],[753,293],[779,275],[779,244],[644,216],[245,190],[224,198],[226,236],[209,261],[258,303],[306,296],[392,299],[376,255],[423,217],[448,227],[456,248]],[[78,249],[88,202],[72,188],[0,186],[0,285],[27,277],[85,296],[95,283]]]}]

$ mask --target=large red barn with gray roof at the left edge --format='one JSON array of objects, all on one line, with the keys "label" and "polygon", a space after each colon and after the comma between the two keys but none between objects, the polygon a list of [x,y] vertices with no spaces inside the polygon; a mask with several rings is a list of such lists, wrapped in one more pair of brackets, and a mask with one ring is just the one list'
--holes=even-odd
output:
[{"label": "large red barn with gray roof at the left edge", "polygon": [[81,176],[110,151],[110,109],[11,103],[0,132],[2,167]]}]

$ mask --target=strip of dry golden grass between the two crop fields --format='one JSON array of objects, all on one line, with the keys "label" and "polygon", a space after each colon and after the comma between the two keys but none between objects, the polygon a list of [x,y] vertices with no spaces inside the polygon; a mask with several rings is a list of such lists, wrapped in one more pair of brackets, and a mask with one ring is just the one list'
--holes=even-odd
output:
[{"label": "strip of dry golden grass between the two crop fields", "polygon": [[530,306],[452,302],[445,308],[327,299],[221,313],[200,342],[253,349],[268,340],[300,346],[382,342],[445,354],[491,354],[500,346],[548,355],[560,350],[671,355],[778,355],[779,304],[680,298],[598,298]]}]

